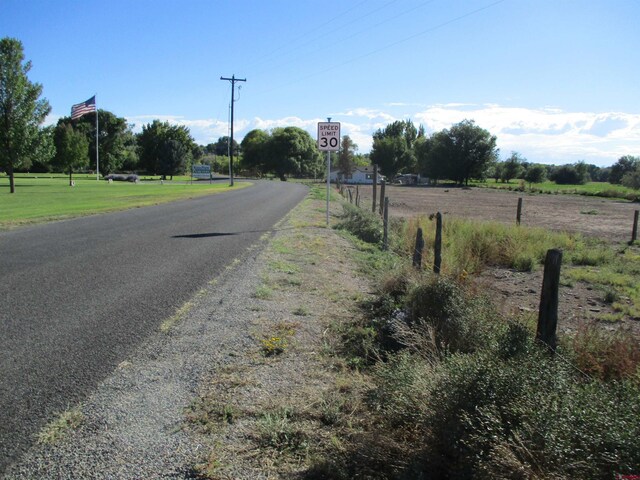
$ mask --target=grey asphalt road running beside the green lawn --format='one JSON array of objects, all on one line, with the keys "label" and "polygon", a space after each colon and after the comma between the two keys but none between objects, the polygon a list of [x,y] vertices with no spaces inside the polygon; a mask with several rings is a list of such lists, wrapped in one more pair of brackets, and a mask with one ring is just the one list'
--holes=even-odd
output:
[{"label": "grey asphalt road running beside the green lawn", "polygon": [[257,182],[0,232],[0,475],[306,191]]}]

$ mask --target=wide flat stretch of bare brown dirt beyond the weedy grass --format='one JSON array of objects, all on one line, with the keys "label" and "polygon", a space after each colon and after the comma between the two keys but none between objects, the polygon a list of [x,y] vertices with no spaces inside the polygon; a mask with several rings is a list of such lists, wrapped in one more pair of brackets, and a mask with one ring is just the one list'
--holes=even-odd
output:
[{"label": "wide flat stretch of bare brown dirt beyond the weedy grass", "polygon": [[[371,186],[361,185],[361,205],[371,205]],[[379,189],[378,189],[379,195]],[[447,215],[515,223],[518,198],[523,199],[522,224],[557,231],[580,232],[613,242],[628,241],[637,203],[579,195],[544,195],[485,188],[387,186],[389,214],[411,217]]]}]

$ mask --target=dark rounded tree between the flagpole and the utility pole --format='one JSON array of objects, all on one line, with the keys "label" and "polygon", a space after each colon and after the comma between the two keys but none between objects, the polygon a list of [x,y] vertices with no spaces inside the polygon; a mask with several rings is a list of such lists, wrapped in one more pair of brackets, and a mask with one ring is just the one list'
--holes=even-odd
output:
[{"label": "dark rounded tree between the flagpole and the utility pole", "polygon": [[186,126],[154,120],[143,125],[142,133],[138,134],[140,166],[150,174],[162,175],[163,179],[167,175],[173,178],[190,165],[194,145]]}]

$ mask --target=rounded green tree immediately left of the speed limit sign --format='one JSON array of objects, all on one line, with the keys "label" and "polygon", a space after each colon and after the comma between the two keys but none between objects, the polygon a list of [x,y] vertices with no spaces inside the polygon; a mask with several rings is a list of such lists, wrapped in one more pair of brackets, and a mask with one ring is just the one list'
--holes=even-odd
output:
[{"label": "rounded green tree immediately left of the speed limit sign", "polygon": [[276,128],[267,143],[265,167],[286,181],[287,175],[315,177],[322,172],[316,142],[298,127]]}]

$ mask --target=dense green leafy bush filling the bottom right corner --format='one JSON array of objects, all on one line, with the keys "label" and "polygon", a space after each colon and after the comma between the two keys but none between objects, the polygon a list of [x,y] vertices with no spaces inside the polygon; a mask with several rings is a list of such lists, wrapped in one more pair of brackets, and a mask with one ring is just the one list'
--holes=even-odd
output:
[{"label": "dense green leafy bush filling the bottom right corner", "polygon": [[436,375],[425,422],[435,478],[608,479],[640,462],[637,384],[582,381],[536,350],[454,355]]}]

